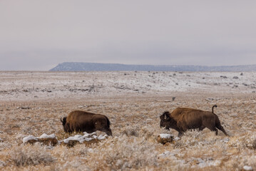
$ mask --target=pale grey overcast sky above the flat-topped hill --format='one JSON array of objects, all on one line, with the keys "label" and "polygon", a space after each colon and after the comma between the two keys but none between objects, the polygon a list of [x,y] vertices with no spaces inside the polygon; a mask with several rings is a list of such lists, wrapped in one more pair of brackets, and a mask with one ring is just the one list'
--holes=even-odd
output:
[{"label": "pale grey overcast sky above the flat-topped hill", "polygon": [[256,64],[256,1],[0,0],[0,71]]}]

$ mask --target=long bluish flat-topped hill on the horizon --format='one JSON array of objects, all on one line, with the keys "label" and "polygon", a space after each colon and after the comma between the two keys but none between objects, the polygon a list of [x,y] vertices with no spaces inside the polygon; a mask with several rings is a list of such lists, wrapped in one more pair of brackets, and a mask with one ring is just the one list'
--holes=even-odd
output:
[{"label": "long bluish flat-topped hill on the horizon", "polygon": [[50,71],[256,71],[256,65],[247,66],[153,66],[118,63],[59,63]]}]

